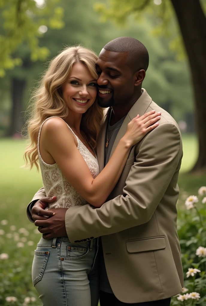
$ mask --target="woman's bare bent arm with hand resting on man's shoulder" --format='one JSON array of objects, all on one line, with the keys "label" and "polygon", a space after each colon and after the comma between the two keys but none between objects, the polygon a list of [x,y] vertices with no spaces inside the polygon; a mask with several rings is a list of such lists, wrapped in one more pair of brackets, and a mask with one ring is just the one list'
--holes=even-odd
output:
[{"label": "woman's bare bent arm with hand resting on man's shoulder", "polygon": [[73,134],[60,118],[51,118],[44,123],[41,144],[77,192],[93,206],[101,207],[119,180],[131,147],[158,125],[158,117],[159,114],[154,112],[135,117],[128,124],[127,132],[111,159],[95,179],[76,147]]}]

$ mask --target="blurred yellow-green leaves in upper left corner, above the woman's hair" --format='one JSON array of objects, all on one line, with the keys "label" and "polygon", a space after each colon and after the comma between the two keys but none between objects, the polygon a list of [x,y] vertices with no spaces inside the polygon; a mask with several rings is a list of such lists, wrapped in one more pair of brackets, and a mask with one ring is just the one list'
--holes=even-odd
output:
[{"label": "blurred yellow-green leaves in upper left corner, above the woman's hair", "polygon": [[29,47],[32,61],[47,58],[50,51],[39,46],[39,39],[47,27],[63,28],[63,8],[58,3],[59,0],[0,0],[0,77],[5,70],[22,64],[16,51],[23,43]]}]

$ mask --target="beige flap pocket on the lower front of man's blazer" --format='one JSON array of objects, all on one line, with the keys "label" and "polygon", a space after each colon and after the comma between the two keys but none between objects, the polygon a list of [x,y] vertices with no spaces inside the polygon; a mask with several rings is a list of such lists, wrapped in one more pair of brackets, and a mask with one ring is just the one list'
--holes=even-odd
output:
[{"label": "beige flap pocket on the lower front of man's blazer", "polygon": [[151,237],[147,239],[126,241],[126,248],[129,253],[161,250],[166,247],[165,237]]}]

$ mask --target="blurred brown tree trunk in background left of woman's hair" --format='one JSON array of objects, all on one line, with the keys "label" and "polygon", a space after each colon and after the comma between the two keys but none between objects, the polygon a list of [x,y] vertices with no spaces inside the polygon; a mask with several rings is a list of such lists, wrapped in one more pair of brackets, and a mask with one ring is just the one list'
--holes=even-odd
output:
[{"label": "blurred brown tree trunk in background left of woman's hair", "polygon": [[12,108],[10,116],[10,128],[7,136],[14,136],[18,138],[21,137],[20,133],[24,125],[23,100],[26,81],[12,78],[11,83]]}]

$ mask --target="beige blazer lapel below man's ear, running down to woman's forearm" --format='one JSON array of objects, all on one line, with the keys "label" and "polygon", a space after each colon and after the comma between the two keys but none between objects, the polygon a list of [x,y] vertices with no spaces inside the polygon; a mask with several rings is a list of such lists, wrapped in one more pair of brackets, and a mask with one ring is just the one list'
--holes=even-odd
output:
[{"label": "beige blazer lapel below man's ear, running down to woman's forearm", "polygon": [[125,117],[120,130],[116,136],[116,139],[114,141],[112,151],[110,153],[109,159],[113,155],[114,150],[116,149],[117,144],[119,143],[120,139],[124,136],[127,130],[128,123],[139,114],[141,117],[147,110],[148,106],[152,102],[151,97],[147,94],[147,91],[142,88],[142,95],[139,97],[139,99],[135,102],[135,104],[132,106],[132,108],[129,110],[127,116]]}]

